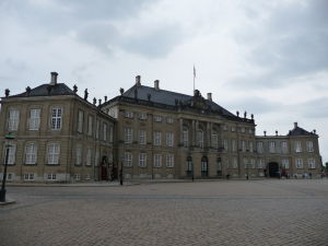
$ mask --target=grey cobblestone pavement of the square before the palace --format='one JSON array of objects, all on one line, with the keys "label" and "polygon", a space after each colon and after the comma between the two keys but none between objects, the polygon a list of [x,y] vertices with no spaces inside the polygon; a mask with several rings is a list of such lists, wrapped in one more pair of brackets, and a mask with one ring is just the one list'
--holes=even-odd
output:
[{"label": "grey cobblestone pavement of the square before the palace", "polygon": [[0,245],[328,245],[328,179],[9,187]]}]

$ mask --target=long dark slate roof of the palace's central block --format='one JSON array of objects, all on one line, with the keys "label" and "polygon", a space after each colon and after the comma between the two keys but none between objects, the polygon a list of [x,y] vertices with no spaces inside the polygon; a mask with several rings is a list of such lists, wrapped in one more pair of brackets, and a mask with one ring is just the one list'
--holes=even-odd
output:
[{"label": "long dark slate roof of the palace's central block", "polygon": [[121,96],[115,97],[109,102],[122,99],[122,98],[130,98],[130,99],[137,98],[138,101],[143,101],[142,104],[144,104],[144,102],[150,102],[152,104],[157,104],[157,105],[165,105],[165,106],[168,105],[168,107],[166,108],[177,108],[179,106],[179,107],[190,109],[191,107],[195,108],[199,106],[198,109],[203,109],[206,112],[215,112],[216,114],[219,113],[220,115],[231,118],[233,120],[254,122],[254,120],[237,117],[234,114],[226,110],[225,108],[218,105],[216,103],[203,98],[198,91],[196,91],[195,95],[191,96],[191,95],[186,95],[177,92],[134,84],[128,91],[122,93]]}]

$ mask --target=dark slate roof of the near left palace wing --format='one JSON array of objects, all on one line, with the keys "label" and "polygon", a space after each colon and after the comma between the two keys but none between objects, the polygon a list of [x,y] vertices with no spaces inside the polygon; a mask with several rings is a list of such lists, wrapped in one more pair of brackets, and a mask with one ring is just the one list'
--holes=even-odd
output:
[{"label": "dark slate roof of the near left palace wing", "polygon": [[54,96],[54,95],[74,95],[74,92],[65,83],[57,83],[55,85],[42,84],[37,87],[26,89],[26,92],[12,95],[9,97],[25,97],[25,96]]}]

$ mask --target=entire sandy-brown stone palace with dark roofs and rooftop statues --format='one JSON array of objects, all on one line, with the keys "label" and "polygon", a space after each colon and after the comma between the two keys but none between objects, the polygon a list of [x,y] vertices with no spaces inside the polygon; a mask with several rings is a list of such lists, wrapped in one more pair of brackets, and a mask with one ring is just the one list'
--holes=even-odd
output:
[{"label": "entire sandy-brown stone palace with dark roofs and rooftop statues", "polygon": [[[285,136],[256,136],[254,116],[232,114],[198,90],[186,95],[141,84],[98,104],[51,82],[1,98],[9,180],[317,177],[318,134],[294,124]],[[97,104],[97,105],[96,105]],[[2,172],[2,171],[0,171]]]}]

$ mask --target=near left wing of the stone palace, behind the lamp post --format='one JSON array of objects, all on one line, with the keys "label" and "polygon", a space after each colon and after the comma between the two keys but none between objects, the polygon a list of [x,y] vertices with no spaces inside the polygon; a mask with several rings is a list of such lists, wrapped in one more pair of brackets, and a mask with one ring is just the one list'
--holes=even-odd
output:
[{"label": "near left wing of the stone palace, behind the lamp post", "polygon": [[8,180],[98,180],[117,169],[115,119],[87,102],[87,91],[81,98],[77,86],[72,91],[57,83],[57,75],[52,72],[50,83],[22,94],[7,91],[1,98],[1,160],[8,148],[4,136],[15,137],[9,147]]}]

